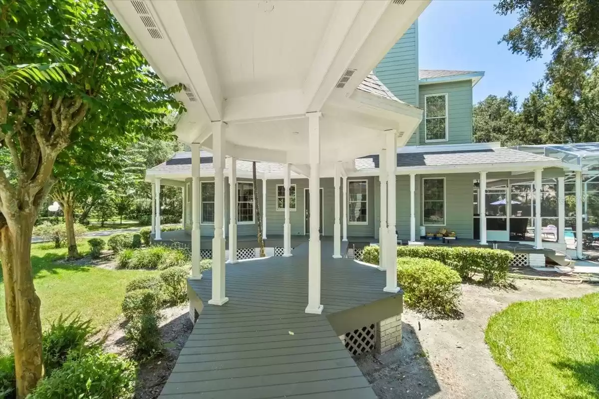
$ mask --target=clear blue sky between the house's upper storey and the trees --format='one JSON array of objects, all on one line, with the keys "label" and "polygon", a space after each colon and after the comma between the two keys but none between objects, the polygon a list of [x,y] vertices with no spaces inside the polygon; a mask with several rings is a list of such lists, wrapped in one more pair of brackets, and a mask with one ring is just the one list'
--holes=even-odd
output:
[{"label": "clear blue sky between the house's upper storey and the trees", "polygon": [[512,54],[501,36],[516,25],[516,16],[495,14],[496,0],[434,0],[420,16],[419,68],[485,71],[474,86],[473,102],[508,90],[519,102],[543,77],[548,59]]}]

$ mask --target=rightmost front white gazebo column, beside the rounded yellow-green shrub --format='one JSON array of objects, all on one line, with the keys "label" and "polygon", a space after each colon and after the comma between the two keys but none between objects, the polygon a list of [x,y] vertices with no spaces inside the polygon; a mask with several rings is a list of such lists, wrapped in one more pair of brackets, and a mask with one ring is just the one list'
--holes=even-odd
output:
[{"label": "rightmost front white gazebo column, beside the rounded yellow-green shrub", "polygon": [[[384,291],[387,293],[397,293],[400,288],[397,287],[397,232],[395,231],[395,214],[397,203],[395,202],[395,182],[397,176],[397,133],[395,130],[385,132],[386,137],[386,162],[387,162],[387,226],[388,233],[385,241],[386,254],[386,286]],[[380,165],[380,164],[379,164]]]}]

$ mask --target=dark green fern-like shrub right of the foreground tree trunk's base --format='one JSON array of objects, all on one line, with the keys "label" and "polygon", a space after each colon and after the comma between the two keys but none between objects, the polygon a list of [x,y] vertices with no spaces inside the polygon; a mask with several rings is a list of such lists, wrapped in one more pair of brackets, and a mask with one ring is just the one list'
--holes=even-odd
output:
[{"label": "dark green fern-like shrub right of the foreground tree trunk's base", "polygon": [[50,328],[44,331],[42,351],[44,355],[44,368],[48,375],[65,363],[69,352],[82,352],[83,349],[92,348],[94,343],[86,346],[87,340],[96,333],[90,319],[83,320],[81,316],[60,315],[52,322]]}]

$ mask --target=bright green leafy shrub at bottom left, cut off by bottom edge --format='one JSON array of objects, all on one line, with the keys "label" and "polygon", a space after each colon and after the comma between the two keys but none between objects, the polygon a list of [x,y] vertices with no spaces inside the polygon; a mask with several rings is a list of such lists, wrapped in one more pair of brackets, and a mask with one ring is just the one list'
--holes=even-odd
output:
[{"label": "bright green leafy shrub at bottom left, cut off by bottom edge", "polygon": [[134,362],[95,349],[79,357],[69,356],[28,398],[131,398],[135,379]]}]

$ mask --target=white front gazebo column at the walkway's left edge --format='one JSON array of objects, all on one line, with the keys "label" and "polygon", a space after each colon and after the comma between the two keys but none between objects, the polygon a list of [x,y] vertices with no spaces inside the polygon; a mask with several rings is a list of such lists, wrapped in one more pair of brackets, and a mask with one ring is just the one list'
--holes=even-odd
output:
[{"label": "white front gazebo column at the walkway's left edge", "polygon": [[223,218],[225,217],[225,128],[226,123],[212,123],[212,157],[214,165],[214,238],[212,239],[212,299],[208,303],[222,305],[229,299],[225,296],[225,239]]}]

